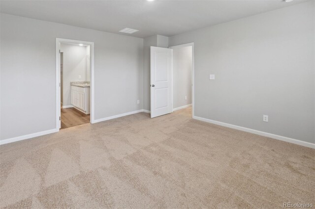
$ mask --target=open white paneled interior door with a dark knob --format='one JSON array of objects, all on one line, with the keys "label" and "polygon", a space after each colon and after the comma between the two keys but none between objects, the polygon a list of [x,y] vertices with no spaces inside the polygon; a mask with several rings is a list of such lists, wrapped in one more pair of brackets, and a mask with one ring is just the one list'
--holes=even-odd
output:
[{"label": "open white paneled interior door with a dark knob", "polygon": [[151,47],[151,118],[172,112],[172,49]]}]

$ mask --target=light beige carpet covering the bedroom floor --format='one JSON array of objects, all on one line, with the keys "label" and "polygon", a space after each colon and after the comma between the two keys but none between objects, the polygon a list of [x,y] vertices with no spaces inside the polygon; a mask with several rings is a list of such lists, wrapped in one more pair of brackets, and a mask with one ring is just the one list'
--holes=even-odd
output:
[{"label": "light beige carpet covering the bedroom floor", "polygon": [[1,208],[283,208],[315,204],[315,150],[138,113],[0,147]]}]

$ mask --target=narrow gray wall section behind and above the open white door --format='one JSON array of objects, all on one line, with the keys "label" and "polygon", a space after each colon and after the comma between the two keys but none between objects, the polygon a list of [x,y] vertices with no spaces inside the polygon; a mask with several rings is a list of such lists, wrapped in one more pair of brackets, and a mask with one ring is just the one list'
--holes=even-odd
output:
[{"label": "narrow gray wall section behind and above the open white door", "polygon": [[143,108],[151,110],[150,47],[168,48],[168,37],[153,35],[143,39]]}]

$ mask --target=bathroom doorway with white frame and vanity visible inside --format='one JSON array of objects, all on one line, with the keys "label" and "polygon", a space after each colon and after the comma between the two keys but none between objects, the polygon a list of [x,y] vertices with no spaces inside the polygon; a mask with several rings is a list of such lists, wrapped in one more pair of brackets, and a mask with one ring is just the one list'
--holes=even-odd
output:
[{"label": "bathroom doorway with white frame and vanity visible inside", "polygon": [[56,39],[57,129],[94,119],[94,43]]}]

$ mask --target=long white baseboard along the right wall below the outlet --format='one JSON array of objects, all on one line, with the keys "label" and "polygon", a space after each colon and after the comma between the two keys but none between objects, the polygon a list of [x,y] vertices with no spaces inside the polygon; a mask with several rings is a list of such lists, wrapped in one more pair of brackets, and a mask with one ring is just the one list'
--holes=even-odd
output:
[{"label": "long white baseboard along the right wall below the outlet", "polygon": [[315,149],[315,144],[314,143],[301,141],[301,140],[298,140],[298,139],[292,139],[292,138],[289,138],[289,137],[280,136],[280,135],[276,135],[276,134],[273,134],[273,133],[257,131],[257,130],[254,130],[254,129],[249,129],[249,128],[245,128],[245,127],[241,127],[241,126],[235,126],[235,125],[232,125],[232,124],[223,123],[223,122],[219,122],[219,121],[214,121],[214,120],[201,118],[201,117],[197,117],[197,116],[192,116],[192,118],[196,119],[196,120],[199,120],[199,121],[204,121],[204,122],[207,122],[207,123],[212,123],[212,124],[216,124],[216,125],[219,125],[219,126],[224,126],[224,127],[228,127],[228,128],[236,129],[236,130],[240,130],[240,131],[250,132],[250,133],[257,134],[257,135],[266,136],[266,137],[270,137],[270,138],[273,138],[273,139],[278,139],[278,140],[289,142],[289,143],[292,143],[292,144],[297,144],[297,145],[301,145],[301,146],[304,146],[304,147],[309,147],[309,148]]}]

